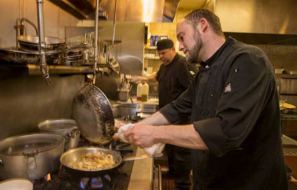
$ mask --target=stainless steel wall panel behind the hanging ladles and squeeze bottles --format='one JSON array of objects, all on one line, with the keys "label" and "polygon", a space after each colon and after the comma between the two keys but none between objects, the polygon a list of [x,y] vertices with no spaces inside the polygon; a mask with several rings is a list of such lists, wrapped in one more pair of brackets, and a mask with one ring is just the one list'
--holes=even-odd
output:
[{"label": "stainless steel wall panel behind the hanging ladles and squeeze bottles", "polygon": [[[99,25],[104,27],[104,31],[99,31],[101,40],[112,39],[111,21],[99,21]],[[117,22],[115,24],[115,40],[120,40],[121,43],[110,47],[112,57],[115,58],[120,65],[120,73],[130,75],[141,75],[143,67],[143,52],[144,52],[144,23],[136,22]],[[104,76],[96,80],[98,86],[105,95],[112,99],[117,100],[117,85],[115,79],[119,81],[120,75],[113,73],[112,77]],[[136,85],[133,84],[131,95],[136,96]]]}]

